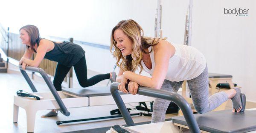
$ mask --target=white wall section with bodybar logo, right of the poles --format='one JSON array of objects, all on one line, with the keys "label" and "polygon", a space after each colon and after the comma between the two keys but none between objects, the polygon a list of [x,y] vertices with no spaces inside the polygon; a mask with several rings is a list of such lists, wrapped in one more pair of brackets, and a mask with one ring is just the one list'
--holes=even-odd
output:
[{"label": "white wall section with bodybar logo, right of the poles", "polygon": [[[249,17],[224,14],[224,8],[249,9]],[[207,58],[209,72],[233,75],[247,100],[256,101],[256,3],[253,0],[194,1],[192,46]]]}]

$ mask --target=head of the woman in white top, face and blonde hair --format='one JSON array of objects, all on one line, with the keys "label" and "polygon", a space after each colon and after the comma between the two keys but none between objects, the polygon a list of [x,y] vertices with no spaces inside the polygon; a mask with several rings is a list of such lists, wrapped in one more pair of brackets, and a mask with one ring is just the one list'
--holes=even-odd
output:
[{"label": "head of the woman in white top, face and blonde hair", "polygon": [[135,72],[140,67],[139,74],[142,72],[143,39],[143,29],[132,19],[122,20],[113,27],[110,52],[120,69]]}]

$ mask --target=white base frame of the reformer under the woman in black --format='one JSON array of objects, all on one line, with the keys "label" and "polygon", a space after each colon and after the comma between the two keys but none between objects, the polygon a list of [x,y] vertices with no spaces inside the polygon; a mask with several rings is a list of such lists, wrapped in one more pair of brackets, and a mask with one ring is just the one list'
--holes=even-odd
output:
[{"label": "white base frame of the reformer under the woman in black", "polygon": [[[43,100],[29,100],[25,97],[14,95],[13,107],[13,122],[18,121],[19,107],[24,108],[26,111],[27,119],[27,132],[34,132],[35,116],[39,110],[52,110],[59,109],[59,105],[54,99],[51,92],[34,92],[33,94],[44,97]],[[95,96],[95,97],[70,97],[62,91],[58,91],[61,100],[66,108],[77,108],[97,105],[113,105],[116,104],[111,95],[108,96]],[[141,95],[122,94],[124,103],[137,103],[153,101],[154,98]]]}]

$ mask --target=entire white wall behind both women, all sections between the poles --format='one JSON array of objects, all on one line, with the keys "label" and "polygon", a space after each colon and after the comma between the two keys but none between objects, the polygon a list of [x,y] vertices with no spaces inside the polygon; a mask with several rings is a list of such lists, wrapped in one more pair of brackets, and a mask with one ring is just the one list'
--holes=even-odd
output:
[{"label": "entire white wall behind both women, all sections between the poles", "polygon": [[[2,5],[3,2],[1,2]],[[15,3],[15,4],[13,4]],[[188,0],[162,0],[163,36],[183,44]],[[122,19],[134,19],[145,36],[154,36],[157,0],[79,0],[41,1],[38,6],[28,0],[9,0],[1,6],[0,23],[18,33],[21,26],[37,25],[42,36],[74,37],[96,44],[110,44],[111,29]],[[29,7],[29,8],[26,8]],[[224,15],[224,8],[249,9],[249,17]],[[192,46],[207,59],[209,72],[233,75],[247,100],[256,102],[256,2],[254,0],[193,0]],[[30,13],[30,14],[28,14]],[[6,18],[6,19],[3,19]],[[112,71],[115,60],[109,50],[83,46],[89,69]]]}]

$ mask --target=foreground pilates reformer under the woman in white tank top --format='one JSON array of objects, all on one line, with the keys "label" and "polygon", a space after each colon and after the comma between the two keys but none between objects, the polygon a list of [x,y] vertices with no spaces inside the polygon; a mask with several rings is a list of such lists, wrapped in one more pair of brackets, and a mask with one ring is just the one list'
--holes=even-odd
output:
[{"label": "foreground pilates reformer under the woman in white tank top", "polygon": [[[111,94],[128,125],[121,127],[130,133],[256,133],[256,108],[247,109],[242,113],[224,110],[193,114],[189,103],[180,94],[142,86],[138,88],[137,94],[173,101],[180,107],[184,116],[175,116],[172,121],[135,126],[128,111],[125,110],[125,104],[118,92],[118,84],[111,84]],[[111,127],[107,133],[117,132]]]}]

